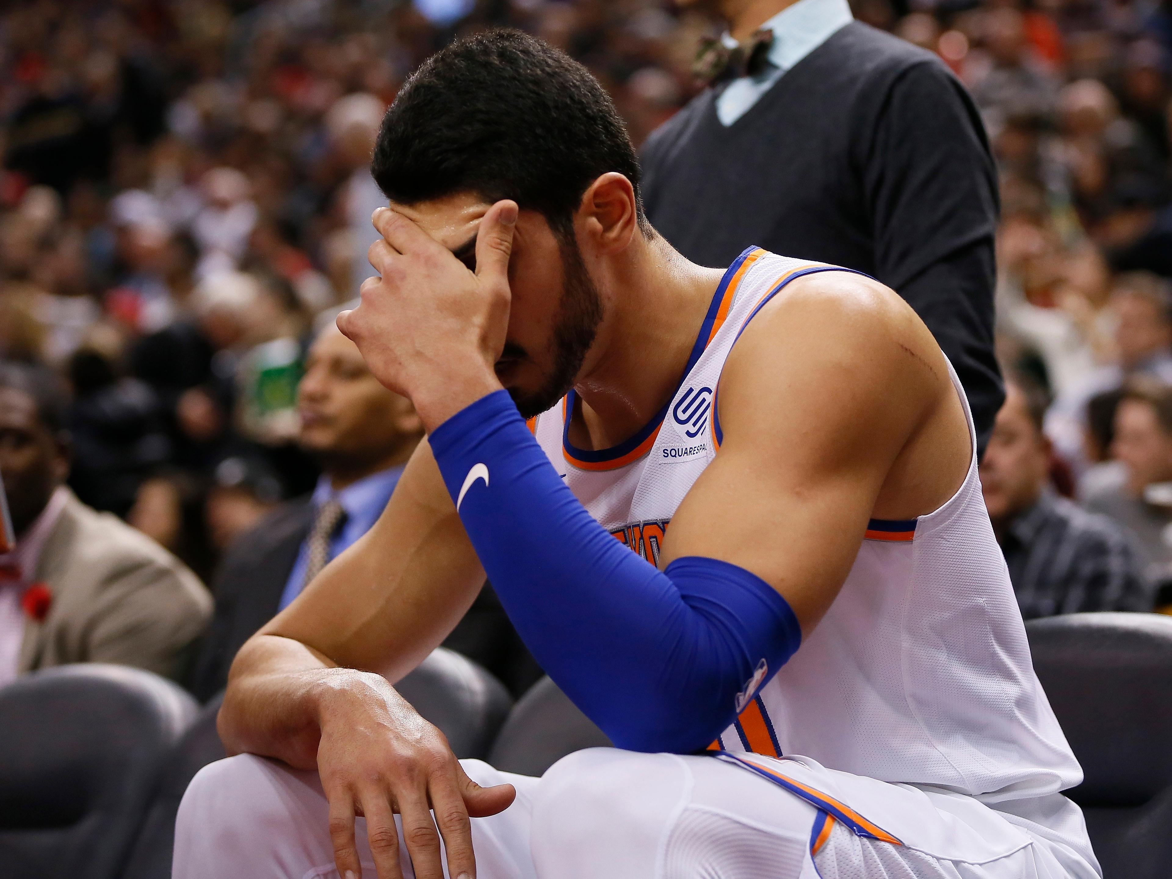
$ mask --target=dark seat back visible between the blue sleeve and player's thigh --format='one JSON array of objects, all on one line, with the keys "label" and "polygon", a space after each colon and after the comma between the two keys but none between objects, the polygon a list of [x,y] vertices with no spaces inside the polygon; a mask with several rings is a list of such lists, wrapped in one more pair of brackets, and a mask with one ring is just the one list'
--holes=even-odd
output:
[{"label": "dark seat back visible between the blue sleeve and player's thigh", "polygon": [[543,677],[509,714],[489,763],[506,772],[539,776],[567,754],[608,747],[606,734],[578,710],[558,684]]}]

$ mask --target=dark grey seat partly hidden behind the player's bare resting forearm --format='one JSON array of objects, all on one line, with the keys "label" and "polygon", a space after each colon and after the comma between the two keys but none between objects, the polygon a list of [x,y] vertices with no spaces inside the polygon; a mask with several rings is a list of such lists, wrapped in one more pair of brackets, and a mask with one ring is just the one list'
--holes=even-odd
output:
[{"label": "dark grey seat partly hidden behind the player's bare resting forearm", "polygon": [[[396,689],[438,727],[457,757],[484,757],[512,700],[496,677],[442,647],[398,682]],[[216,731],[216,696],[175,747],[122,879],[168,879],[175,845],[175,816],[196,772],[225,756]]]}]

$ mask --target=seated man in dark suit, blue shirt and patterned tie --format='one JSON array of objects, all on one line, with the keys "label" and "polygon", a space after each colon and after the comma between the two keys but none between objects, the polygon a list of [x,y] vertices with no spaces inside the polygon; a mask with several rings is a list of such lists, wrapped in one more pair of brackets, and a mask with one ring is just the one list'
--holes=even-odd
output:
[{"label": "seated man in dark suit, blue shirt and patterned tie", "polygon": [[[374,525],[423,436],[410,402],[379,383],[333,316],[309,348],[298,389],[298,441],[321,462],[322,476],[311,497],[284,504],[229,551],[213,585],[212,625],[189,681],[200,700],[224,689],[244,642]],[[445,646],[510,684],[523,687],[540,675],[490,588]]]}]

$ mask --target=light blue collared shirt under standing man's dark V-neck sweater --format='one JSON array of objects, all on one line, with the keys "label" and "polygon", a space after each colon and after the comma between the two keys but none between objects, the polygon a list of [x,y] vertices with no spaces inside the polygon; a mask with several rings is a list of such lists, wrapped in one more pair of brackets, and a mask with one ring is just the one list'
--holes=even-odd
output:
[{"label": "light blue collared shirt under standing man's dark V-neck sweater", "polygon": [[[798,0],[762,25],[763,30],[774,32],[769,64],[756,76],[732,80],[716,96],[716,117],[721,124],[731,125],[741,118],[786,70],[852,20],[846,0]],[[728,33],[721,40],[730,49],[737,45]]]}]

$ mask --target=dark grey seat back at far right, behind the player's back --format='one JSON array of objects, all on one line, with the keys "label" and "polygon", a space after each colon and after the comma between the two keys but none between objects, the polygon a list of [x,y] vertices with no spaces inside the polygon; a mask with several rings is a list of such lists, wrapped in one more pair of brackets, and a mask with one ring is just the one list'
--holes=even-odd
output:
[{"label": "dark grey seat back at far right, behind the player's back", "polygon": [[1106,877],[1172,875],[1172,619],[1084,613],[1026,626],[1034,667],[1085,779]]}]

